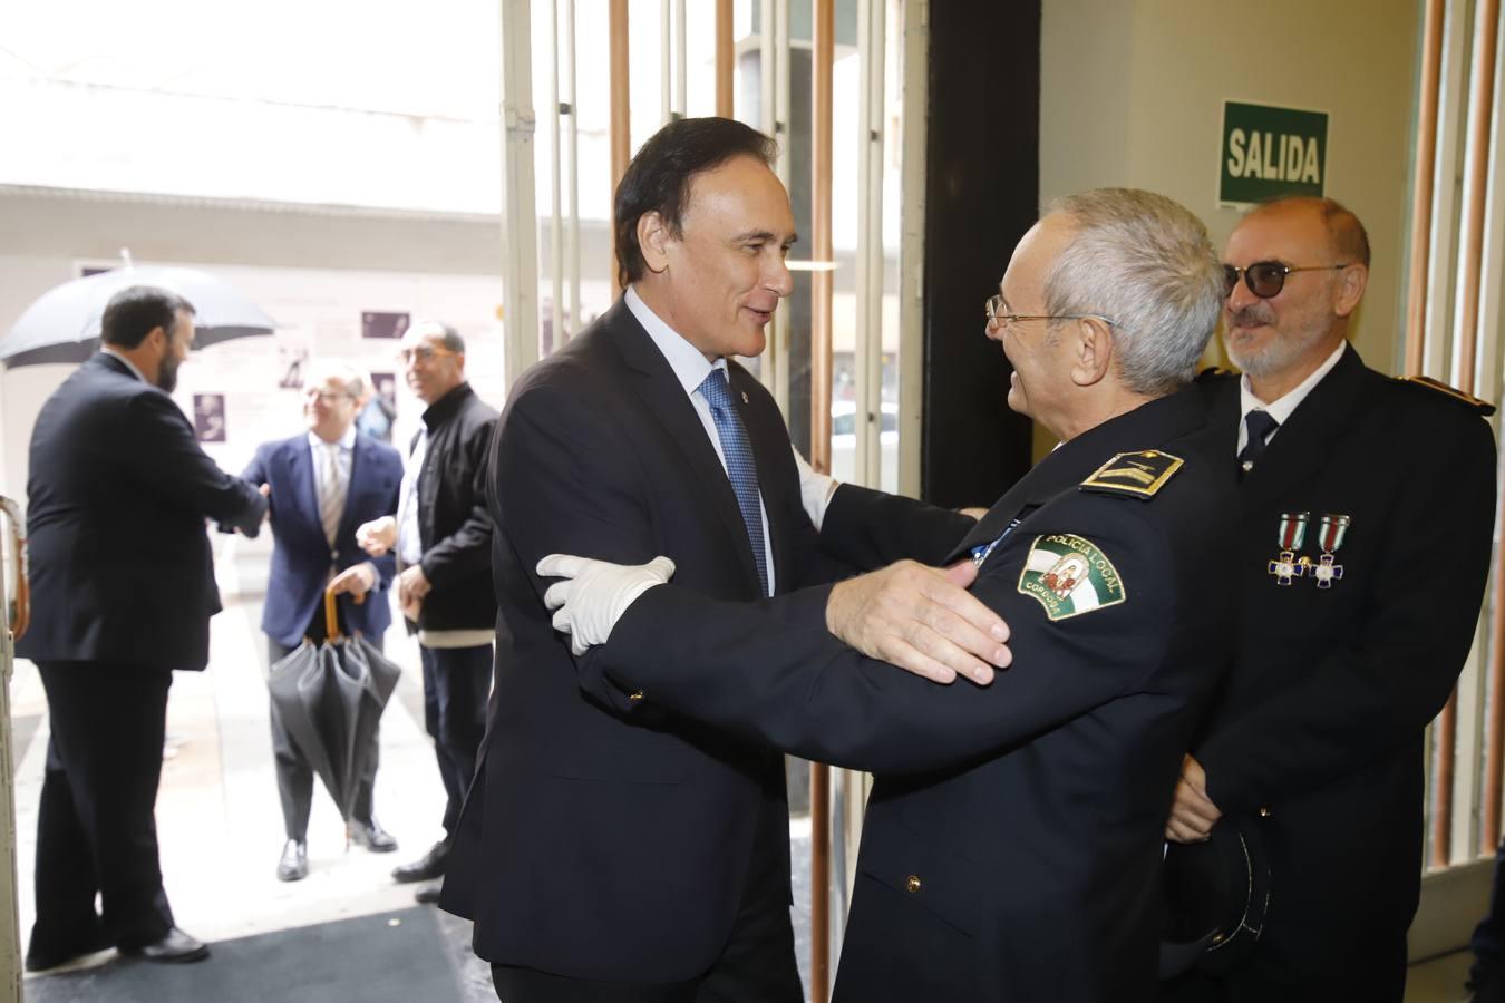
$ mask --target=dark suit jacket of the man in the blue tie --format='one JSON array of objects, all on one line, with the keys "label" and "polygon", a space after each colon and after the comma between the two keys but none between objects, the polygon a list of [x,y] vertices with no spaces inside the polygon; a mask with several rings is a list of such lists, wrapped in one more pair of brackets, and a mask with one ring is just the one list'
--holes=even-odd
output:
[{"label": "dark suit jacket of the man in the blue tie", "polygon": [[[775,585],[811,570],[772,397],[728,365],[757,462]],[[668,361],[626,305],[513,386],[492,450],[497,686],[455,836],[442,905],[476,920],[476,953],[554,974],[674,982],[719,955],[760,820],[765,871],[789,884],[783,758],[685,720],[605,707],[576,683],[543,605],[549,553],[638,564],[727,600],[760,591],[727,474]]]}]

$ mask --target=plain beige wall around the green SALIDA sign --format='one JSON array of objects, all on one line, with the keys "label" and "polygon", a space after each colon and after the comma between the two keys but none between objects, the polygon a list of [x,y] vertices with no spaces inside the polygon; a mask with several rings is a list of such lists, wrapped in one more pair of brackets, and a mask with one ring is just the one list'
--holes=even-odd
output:
[{"label": "plain beige wall around the green SALIDA sign", "polygon": [[1044,0],[1040,197],[1103,185],[1159,191],[1222,247],[1224,99],[1329,114],[1326,191],[1370,232],[1354,344],[1394,371],[1421,12],[1415,0]]}]

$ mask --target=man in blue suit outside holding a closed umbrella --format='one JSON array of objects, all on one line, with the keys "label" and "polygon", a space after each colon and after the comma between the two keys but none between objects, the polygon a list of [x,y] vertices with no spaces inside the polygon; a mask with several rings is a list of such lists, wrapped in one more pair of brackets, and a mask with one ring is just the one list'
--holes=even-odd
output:
[{"label": "man in blue suit outside holding a closed umbrella", "polygon": [[[262,608],[269,665],[304,638],[325,639],[325,589],[352,600],[340,606],[342,633],[364,635],[381,650],[391,623],[387,586],[396,559],[390,553],[367,559],[355,543],[355,528],[397,511],[402,456],[384,442],[355,435],[355,417],[367,395],[366,376],[360,370],[342,362],[315,362],[307,368],[303,391],[307,432],[260,445],[241,474],[251,484],[266,484],[272,502],[275,544]],[[283,726],[275,704],[271,705],[271,726],[277,791],[287,832],[277,880],[298,881],[309,874],[313,768]],[[370,765],[355,794],[349,835],[373,853],[391,853],[397,841],[372,812],[376,732],[370,744]]]}]

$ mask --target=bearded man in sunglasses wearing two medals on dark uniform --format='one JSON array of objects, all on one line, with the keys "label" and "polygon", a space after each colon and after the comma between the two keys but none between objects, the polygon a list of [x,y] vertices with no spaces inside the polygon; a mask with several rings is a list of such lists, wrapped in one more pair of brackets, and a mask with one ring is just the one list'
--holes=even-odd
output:
[{"label": "bearded man in sunglasses wearing two medals on dark uniform", "polygon": [[[1239,657],[1190,746],[1166,836],[1260,826],[1272,898],[1252,955],[1168,998],[1398,1003],[1421,883],[1422,732],[1473,641],[1494,522],[1475,403],[1370,370],[1347,343],[1368,281],[1332,200],[1252,211],[1224,251],[1206,380],[1237,454]],[[1440,577],[1439,577],[1440,576]]]}]

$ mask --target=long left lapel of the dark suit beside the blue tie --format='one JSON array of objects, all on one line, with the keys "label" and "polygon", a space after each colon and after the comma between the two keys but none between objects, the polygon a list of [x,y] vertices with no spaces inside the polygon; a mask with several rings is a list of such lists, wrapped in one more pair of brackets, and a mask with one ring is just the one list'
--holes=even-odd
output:
[{"label": "long left lapel of the dark suit beside the blue tie", "polygon": [[[727,478],[727,471],[716,457],[715,447],[706,438],[706,427],[700,423],[695,406],[689,403],[689,397],[674,376],[668,359],[664,358],[664,353],[653,344],[647,331],[643,329],[638,319],[628,310],[626,302],[619,299],[611,307],[607,316],[607,326],[611,331],[611,341],[622,355],[622,359],[637,374],[632,389],[658,423],[664,426],[664,430],[685,457],[692,480],[704,492],[707,504],[736,544],[743,577],[749,582],[752,592],[759,594],[762,585],[757,576],[757,564],[752,562],[752,544],[748,541],[748,528],[742,522],[737,496],[731,492],[731,481]],[[754,444],[754,454],[757,454],[756,450]],[[759,462],[762,463],[762,457],[759,457]]]}]

